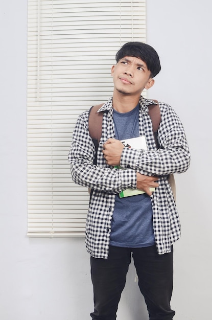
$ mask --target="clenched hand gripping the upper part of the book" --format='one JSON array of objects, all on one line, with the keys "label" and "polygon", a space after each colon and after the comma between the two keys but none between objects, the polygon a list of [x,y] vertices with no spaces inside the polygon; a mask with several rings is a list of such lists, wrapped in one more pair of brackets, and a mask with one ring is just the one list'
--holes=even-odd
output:
[{"label": "clenched hand gripping the upper part of the book", "polygon": [[103,154],[106,164],[109,166],[119,166],[124,145],[120,140],[109,138],[103,145]]}]

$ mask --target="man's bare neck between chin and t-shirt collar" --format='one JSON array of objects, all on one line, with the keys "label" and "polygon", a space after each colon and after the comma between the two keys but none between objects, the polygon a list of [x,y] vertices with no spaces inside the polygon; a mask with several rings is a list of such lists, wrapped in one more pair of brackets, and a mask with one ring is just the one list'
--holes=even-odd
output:
[{"label": "man's bare neck between chin and t-shirt collar", "polygon": [[113,94],[112,105],[113,109],[118,112],[125,113],[129,112],[138,104],[140,99],[139,96],[131,95],[115,95]]}]

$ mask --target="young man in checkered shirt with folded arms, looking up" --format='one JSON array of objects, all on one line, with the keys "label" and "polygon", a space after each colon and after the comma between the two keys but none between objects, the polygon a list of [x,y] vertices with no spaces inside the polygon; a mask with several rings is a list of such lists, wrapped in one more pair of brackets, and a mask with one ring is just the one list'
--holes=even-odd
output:
[{"label": "young man in checkered shirt with folded arms, looking up", "polygon": [[[116,62],[111,69],[113,96],[100,108],[105,112],[97,165],[88,111],[78,118],[69,152],[73,180],[93,190],[85,239],[95,304],[91,317],[115,320],[132,255],[150,320],[171,320],[172,245],[180,237],[180,223],[168,176],[189,168],[189,147],[178,116],[162,102],[159,149],[156,146],[148,114],[154,101],[141,96],[160,71],[156,51],[142,42],[128,42],[117,52]],[[147,150],[121,142],[138,136],[145,137]],[[120,198],[127,188],[145,193]]]}]

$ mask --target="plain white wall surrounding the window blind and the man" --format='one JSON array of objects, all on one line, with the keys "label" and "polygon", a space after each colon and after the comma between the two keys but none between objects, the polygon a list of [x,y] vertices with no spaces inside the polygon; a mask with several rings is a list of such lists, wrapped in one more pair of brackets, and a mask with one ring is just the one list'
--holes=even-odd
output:
[{"label": "plain white wall surrounding the window blind and the man", "polygon": [[[192,153],[189,171],[176,176],[182,224],[174,247],[176,320],[210,317],[211,9],[208,0],[147,0],[147,40],[162,64],[149,97],[176,109]],[[0,318],[89,319],[84,240],[26,237],[27,0],[3,2],[0,15]],[[148,319],[134,275],[131,265],[118,320]]]}]

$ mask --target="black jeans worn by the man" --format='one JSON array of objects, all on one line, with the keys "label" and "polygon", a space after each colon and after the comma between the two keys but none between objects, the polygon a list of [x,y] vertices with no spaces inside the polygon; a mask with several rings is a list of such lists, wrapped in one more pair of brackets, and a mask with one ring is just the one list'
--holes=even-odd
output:
[{"label": "black jeans worn by the man", "polygon": [[171,320],[175,311],[170,308],[173,289],[173,249],[158,255],[156,246],[122,248],[110,246],[108,259],[91,257],[91,280],[95,320],[115,320],[121,293],[131,262],[131,253],[138,276],[138,286],[144,295],[150,320]]}]

